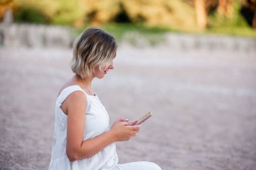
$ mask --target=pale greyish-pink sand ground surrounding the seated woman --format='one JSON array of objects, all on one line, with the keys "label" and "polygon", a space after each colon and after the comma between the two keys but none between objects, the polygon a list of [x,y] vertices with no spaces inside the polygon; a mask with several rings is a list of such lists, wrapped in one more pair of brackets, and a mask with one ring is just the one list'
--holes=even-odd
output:
[{"label": "pale greyish-pink sand ground surrounding the seated woman", "polygon": [[[48,169],[70,58],[71,50],[0,48],[0,169]],[[256,169],[255,52],[121,46],[94,91],[111,122],[154,114],[136,138],[117,143],[120,163]]]}]

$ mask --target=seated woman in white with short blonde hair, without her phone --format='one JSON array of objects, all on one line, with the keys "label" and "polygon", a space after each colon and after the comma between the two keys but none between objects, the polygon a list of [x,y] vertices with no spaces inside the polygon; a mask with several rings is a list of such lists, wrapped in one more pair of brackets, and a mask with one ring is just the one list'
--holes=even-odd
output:
[{"label": "seated woman in white with short blonde hair, without her phone", "polygon": [[110,128],[108,113],[92,89],[114,69],[117,44],[98,28],[75,40],[71,69],[75,75],[61,88],[55,105],[54,143],[49,170],[160,170],[150,162],[118,164],[115,142],[136,136],[140,125],[121,118]]}]

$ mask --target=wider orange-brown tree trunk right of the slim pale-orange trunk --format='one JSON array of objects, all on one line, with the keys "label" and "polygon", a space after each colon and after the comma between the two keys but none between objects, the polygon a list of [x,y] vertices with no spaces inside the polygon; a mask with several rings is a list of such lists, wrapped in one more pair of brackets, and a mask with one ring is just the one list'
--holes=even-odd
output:
[{"label": "wider orange-brown tree trunk right of the slim pale-orange trunk", "polygon": [[232,17],[233,13],[233,0],[219,0],[218,13],[226,17]]}]

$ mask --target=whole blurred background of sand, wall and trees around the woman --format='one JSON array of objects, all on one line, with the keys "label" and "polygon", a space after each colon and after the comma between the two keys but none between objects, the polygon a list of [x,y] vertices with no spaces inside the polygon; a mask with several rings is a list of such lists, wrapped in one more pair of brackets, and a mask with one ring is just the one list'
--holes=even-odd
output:
[{"label": "whole blurred background of sand, wall and trees around the woman", "polygon": [[119,163],[255,169],[255,0],[0,0],[0,21],[0,169],[48,169],[73,41],[92,26],[119,44],[94,81],[110,124],[154,114]]}]

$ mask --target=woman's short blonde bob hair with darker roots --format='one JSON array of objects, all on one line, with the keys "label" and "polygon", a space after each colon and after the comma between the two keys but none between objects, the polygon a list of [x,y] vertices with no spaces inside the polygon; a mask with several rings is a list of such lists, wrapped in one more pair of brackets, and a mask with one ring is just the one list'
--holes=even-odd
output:
[{"label": "woman's short blonde bob hair with darker roots", "polygon": [[115,58],[115,38],[99,28],[89,28],[80,34],[73,44],[71,69],[82,79],[92,76],[95,67],[108,67]]}]

